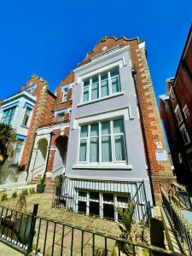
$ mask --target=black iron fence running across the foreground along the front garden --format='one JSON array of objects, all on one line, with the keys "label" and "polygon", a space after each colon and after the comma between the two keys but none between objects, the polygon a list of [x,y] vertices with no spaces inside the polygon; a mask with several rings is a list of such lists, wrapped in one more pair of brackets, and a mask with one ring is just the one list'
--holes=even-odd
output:
[{"label": "black iron fence running across the foreground along the front garden", "polygon": [[84,222],[79,225],[38,216],[38,205],[32,213],[17,212],[1,207],[0,241],[14,247],[20,253],[27,255],[92,255],[120,256],[125,255],[182,255],[153,247],[142,242],[129,241],[116,234],[110,235],[108,227],[105,232],[95,230],[94,223],[90,228],[84,228]]}]

